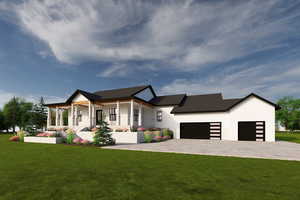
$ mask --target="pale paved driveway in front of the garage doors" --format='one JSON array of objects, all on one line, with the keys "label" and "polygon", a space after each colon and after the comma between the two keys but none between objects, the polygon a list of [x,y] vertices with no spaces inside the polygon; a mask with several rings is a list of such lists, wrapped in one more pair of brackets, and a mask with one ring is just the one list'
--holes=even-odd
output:
[{"label": "pale paved driveway in front of the garage doors", "polygon": [[160,143],[122,144],[104,148],[300,161],[300,144],[284,141],[246,142],[174,139]]}]

